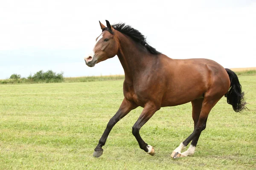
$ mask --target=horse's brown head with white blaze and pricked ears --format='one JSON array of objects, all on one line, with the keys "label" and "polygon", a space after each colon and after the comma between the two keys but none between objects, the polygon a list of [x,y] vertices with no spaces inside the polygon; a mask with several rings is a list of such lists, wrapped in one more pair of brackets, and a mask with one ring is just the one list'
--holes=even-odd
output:
[{"label": "horse's brown head with white blaze and pricked ears", "polygon": [[119,43],[114,35],[115,30],[108,20],[106,22],[107,27],[99,22],[102,33],[96,38],[96,44],[92,53],[84,57],[84,61],[89,67],[93,67],[98,62],[114,57],[118,52]]}]

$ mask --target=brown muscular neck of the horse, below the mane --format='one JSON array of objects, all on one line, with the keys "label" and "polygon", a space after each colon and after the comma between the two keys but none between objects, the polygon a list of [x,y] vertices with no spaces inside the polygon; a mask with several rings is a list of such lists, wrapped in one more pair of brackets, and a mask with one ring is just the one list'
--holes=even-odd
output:
[{"label": "brown muscular neck of the horse, below the mane", "polygon": [[119,36],[119,43],[120,48],[117,56],[125,71],[125,80],[128,83],[132,83],[134,79],[145,71],[145,68],[151,65],[151,60],[154,57],[125,35]]}]

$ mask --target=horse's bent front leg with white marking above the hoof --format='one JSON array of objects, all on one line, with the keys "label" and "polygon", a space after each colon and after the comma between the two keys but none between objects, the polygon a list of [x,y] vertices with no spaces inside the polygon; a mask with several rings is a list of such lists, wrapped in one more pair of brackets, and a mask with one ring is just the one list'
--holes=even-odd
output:
[{"label": "horse's bent front leg with white marking above the hoof", "polygon": [[135,136],[135,138],[137,139],[137,142],[140,145],[140,148],[145,150],[145,152],[147,152],[148,154],[150,154],[151,156],[154,155],[154,147],[152,147],[151,145],[148,145],[147,143],[145,143],[143,141],[143,139],[140,136],[140,128],[146,123],[148,122],[148,120],[154,115],[154,113],[156,111],[158,111],[160,109],[160,107],[157,107],[155,104],[151,104],[151,103],[147,103],[142,111],[142,113],[140,114],[139,119],[137,120],[137,122],[134,124],[134,126],[132,127],[132,134]]}]

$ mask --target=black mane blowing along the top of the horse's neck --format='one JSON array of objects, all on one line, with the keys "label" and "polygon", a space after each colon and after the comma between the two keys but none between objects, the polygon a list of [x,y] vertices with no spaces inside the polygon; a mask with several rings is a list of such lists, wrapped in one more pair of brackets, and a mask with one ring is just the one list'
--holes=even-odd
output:
[{"label": "black mane blowing along the top of the horse's neck", "polygon": [[141,45],[143,45],[151,54],[161,54],[159,51],[157,51],[155,48],[148,45],[148,42],[146,42],[146,38],[143,34],[140,33],[137,29],[132,28],[129,25],[125,25],[125,23],[118,23],[114,24],[112,26],[115,30],[121,32],[122,34],[125,34],[129,37],[131,37],[134,41],[139,42]]}]

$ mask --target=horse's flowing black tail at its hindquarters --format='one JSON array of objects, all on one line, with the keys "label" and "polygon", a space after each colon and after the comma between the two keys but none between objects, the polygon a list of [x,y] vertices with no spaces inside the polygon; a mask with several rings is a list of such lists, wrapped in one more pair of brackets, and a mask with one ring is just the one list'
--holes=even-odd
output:
[{"label": "horse's flowing black tail at its hindquarters", "polygon": [[242,110],[247,109],[245,106],[246,102],[244,101],[244,92],[242,92],[242,87],[236,73],[228,68],[225,69],[230,77],[230,89],[225,94],[227,103],[233,106],[235,112],[241,112]]}]

